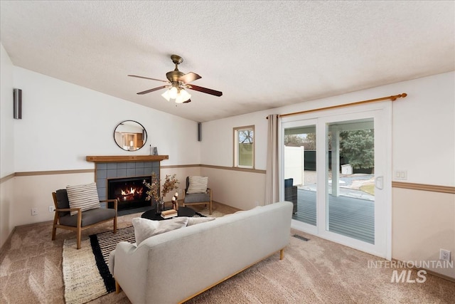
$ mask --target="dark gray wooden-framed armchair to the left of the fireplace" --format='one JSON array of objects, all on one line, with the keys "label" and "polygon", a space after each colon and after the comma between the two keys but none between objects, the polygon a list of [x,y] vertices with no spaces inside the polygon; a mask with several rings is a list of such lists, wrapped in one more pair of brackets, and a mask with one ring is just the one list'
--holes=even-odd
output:
[{"label": "dark gray wooden-framed armchair to the left of the fireplace", "polygon": [[[114,234],[117,232],[117,199],[106,199],[103,201],[113,203],[114,209],[97,208],[81,211],[80,208],[70,208],[70,201],[66,189],[52,192],[55,205],[55,216],[52,226],[52,240],[55,240],[57,229],[68,229],[76,231],[77,249],[80,248],[82,230],[89,229],[107,221],[114,222]],[[101,202],[101,201],[100,201]],[[77,211],[71,216],[70,211]]]}]

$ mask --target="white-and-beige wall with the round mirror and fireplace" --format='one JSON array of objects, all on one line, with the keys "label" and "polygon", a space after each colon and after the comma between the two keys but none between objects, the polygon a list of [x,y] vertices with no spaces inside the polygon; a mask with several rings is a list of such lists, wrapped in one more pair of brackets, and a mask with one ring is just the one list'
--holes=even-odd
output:
[{"label": "white-and-beige wall with the round mirror and fireplace", "polygon": [[[13,88],[23,93],[22,120],[13,119]],[[53,219],[53,212],[48,212],[52,191],[93,182],[92,173],[68,174],[94,169],[95,164],[85,160],[87,155],[146,155],[152,145],[169,156],[162,166],[201,162],[200,142],[188,136],[197,122],[15,67],[3,46],[0,110],[0,177],[6,177],[1,182],[0,246],[15,226]],[[141,150],[127,152],[114,142],[114,129],[123,120],[136,120],[146,128],[148,138]],[[45,173],[49,171],[63,174]],[[178,171],[186,176],[185,169]],[[21,176],[8,179],[14,173]],[[31,208],[38,209],[37,216],[31,216]]]}]

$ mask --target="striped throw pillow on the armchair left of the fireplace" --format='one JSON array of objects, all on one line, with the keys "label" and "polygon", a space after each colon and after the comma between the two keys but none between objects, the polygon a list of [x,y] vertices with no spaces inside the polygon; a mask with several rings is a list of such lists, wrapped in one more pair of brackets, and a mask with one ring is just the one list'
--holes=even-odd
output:
[{"label": "striped throw pillow on the armchair left of the fireplace", "polygon": [[[80,208],[82,211],[100,208],[100,198],[96,183],[80,184],[76,186],[67,186],[66,193],[70,208]],[[77,214],[77,211],[71,211],[71,215]]]}]

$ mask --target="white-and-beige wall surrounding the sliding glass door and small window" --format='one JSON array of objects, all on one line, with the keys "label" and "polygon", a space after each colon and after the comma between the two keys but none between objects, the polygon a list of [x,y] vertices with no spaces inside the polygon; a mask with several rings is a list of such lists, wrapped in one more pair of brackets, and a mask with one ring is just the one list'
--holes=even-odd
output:
[{"label": "white-and-beige wall surrounding the sliding glass door and small window", "polygon": [[[455,73],[383,85],[248,115],[203,123],[203,164],[232,167],[232,128],[255,125],[256,169],[265,169],[268,114],[284,114],[407,93],[392,103],[392,163],[407,170],[403,182],[455,187]],[[222,139],[222,140],[221,140]],[[204,171],[205,169],[203,169]],[[223,171],[223,170],[222,170]],[[264,198],[264,174],[213,174],[217,187],[229,187],[215,201],[250,209]],[[235,179],[235,180],[233,180]],[[235,187],[230,187],[235,185]],[[260,185],[260,186],[259,186]],[[251,194],[254,189],[254,195]],[[259,201],[263,204],[263,200]],[[422,228],[424,227],[424,229]],[[443,235],[443,236],[441,236]],[[439,248],[455,256],[455,195],[394,189],[392,194],[392,258],[437,259]],[[455,278],[453,269],[432,269]]]}]

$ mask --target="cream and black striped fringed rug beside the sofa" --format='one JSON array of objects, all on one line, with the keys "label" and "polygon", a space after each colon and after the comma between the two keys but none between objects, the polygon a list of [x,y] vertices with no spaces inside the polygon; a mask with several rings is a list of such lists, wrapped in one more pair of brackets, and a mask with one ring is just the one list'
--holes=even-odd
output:
[{"label": "cream and black striped fringed rug beside the sofa", "polygon": [[115,290],[107,262],[109,253],[117,243],[134,243],[134,227],[129,226],[112,231],[93,234],[90,239],[81,241],[76,249],[76,240],[63,243],[63,281],[65,283],[66,304],[82,304],[99,298]]}]

